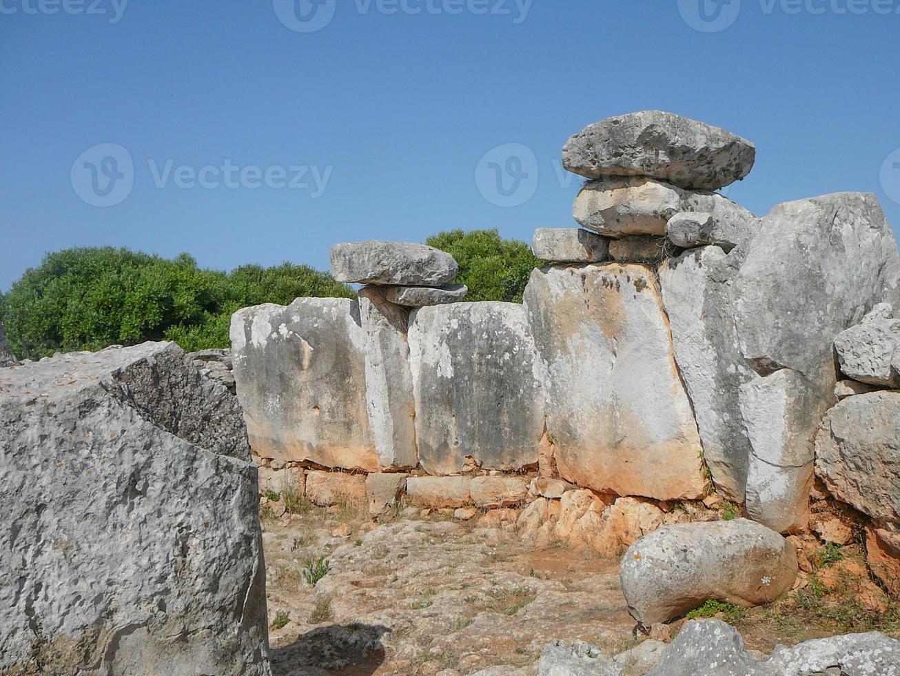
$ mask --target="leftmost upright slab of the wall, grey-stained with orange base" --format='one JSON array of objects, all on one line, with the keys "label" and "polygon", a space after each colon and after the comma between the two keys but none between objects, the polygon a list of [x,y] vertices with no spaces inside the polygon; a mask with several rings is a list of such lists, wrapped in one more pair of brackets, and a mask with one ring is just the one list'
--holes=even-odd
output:
[{"label": "leftmost upright slab of the wall, grey-stained with orange base", "polygon": [[231,318],[238,399],[253,451],[324,467],[378,469],[365,397],[359,304],[298,298]]}]

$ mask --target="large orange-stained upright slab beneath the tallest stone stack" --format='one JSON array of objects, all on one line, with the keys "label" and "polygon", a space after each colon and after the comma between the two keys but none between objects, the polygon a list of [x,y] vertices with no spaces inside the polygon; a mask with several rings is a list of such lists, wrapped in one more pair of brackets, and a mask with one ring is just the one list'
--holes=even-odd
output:
[{"label": "large orange-stained upright slab beneath the tallest stone stack", "polygon": [[525,303],[563,479],[619,495],[701,498],[702,447],[653,273],[536,269]]}]

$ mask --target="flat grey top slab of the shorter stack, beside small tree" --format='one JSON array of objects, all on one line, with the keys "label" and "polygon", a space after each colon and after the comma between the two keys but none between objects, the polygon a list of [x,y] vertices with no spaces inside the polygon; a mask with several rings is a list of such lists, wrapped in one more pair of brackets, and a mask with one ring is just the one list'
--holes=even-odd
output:
[{"label": "flat grey top slab of the shorter stack, beside small tree", "polygon": [[331,248],[331,274],[341,282],[441,287],[457,271],[453,256],[425,244],[372,240]]}]

